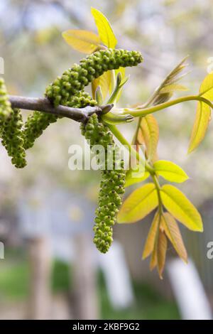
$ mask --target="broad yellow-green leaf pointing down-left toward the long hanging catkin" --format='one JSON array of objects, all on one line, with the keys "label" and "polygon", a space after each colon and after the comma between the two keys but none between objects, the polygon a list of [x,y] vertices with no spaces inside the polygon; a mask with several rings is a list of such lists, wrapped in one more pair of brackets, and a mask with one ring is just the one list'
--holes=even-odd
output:
[{"label": "broad yellow-green leaf pointing down-left toward the long hanging catkin", "polygon": [[141,188],[138,188],[129,195],[124,201],[117,221],[122,222],[137,222],[143,219],[158,206],[158,195],[153,183],[147,183]]}]

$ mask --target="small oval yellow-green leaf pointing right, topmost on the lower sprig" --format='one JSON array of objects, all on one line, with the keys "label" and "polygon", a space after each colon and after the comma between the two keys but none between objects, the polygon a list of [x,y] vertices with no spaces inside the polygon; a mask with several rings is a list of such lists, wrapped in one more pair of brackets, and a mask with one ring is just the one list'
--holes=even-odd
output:
[{"label": "small oval yellow-green leaf pointing right, topmost on the lower sprig", "polygon": [[154,168],[158,175],[170,182],[181,183],[188,179],[185,171],[171,161],[158,160],[154,163]]}]

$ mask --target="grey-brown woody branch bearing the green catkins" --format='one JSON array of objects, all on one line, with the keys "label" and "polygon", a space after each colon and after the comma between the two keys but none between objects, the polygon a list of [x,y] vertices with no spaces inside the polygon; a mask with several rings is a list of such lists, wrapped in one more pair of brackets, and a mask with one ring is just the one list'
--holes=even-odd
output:
[{"label": "grey-brown woody branch bearing the green catkins", "polygon": [[22,97],[16,95],[9,95],[9,100],[13,108],[27,109],[38,112],[45,112],[48,114],[55,114],[62,117],[73,119],[77,122],[86,122],[89,116],[94,113],[107,113],[113,107],[113,104],[96,107],[71,108],[59,105],[54,107],[53,104],[46,98]]}]

